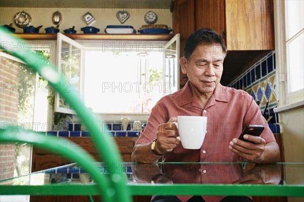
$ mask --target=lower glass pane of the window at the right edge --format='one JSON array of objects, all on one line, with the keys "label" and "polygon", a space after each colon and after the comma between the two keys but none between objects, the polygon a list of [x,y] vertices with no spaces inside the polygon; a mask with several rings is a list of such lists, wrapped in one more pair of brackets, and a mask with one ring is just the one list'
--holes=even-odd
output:
[{"label": "lower glass pane of the window at the right edge", "polygon": [[303,89],[304,33],[287,43],[289,93]]}]

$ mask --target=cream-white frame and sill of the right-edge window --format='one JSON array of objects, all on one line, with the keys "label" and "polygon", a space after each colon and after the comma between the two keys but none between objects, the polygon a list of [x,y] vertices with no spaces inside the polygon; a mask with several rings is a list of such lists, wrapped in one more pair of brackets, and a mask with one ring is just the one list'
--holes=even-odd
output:
[{"label": "cream-white frame and sill of the right-edge window", "polygon": [[[275,19],[275,42],[276,42],[276,77],[278,87],[278,108],[275,112],[281,112],[304,105],[304,89],[289,92],[288,58],[286,42],[286,23],[285,23],[285,1],[274,1]],[[296,35],[301,33],[303,29]]]}]

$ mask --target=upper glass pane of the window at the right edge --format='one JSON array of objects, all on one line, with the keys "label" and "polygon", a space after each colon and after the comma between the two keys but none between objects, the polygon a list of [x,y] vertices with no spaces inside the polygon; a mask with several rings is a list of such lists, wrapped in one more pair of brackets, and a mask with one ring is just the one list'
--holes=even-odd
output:
[{"label": "upper glass pane of the window at the right edge", "polygon": [[304,1],[288,0],[285,1],[286,9],[286,41],[298,33],[304,27]]}]

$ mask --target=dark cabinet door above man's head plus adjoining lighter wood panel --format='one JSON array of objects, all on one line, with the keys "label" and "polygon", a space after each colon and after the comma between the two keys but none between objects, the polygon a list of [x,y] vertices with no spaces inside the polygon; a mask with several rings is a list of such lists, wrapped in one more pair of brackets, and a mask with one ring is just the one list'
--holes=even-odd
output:
[{"label": "dark cabinet door above man's head plus adjoining lighter wood panel", "polygon": [[229,51],[274,50],[273,0],[196,0],[195,28],[209,27]]}]

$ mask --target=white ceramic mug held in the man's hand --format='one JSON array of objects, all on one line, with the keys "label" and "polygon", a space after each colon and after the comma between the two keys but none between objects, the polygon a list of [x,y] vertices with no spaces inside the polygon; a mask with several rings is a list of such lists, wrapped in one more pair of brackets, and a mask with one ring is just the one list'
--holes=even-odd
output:
[{"label": "white ceramic mug held in the man's hand", "polygon": [[173,122],[179,133],[177,137],[185,149],[200,149],[206,135],[206,116],[177,116],[177,121]]}]

